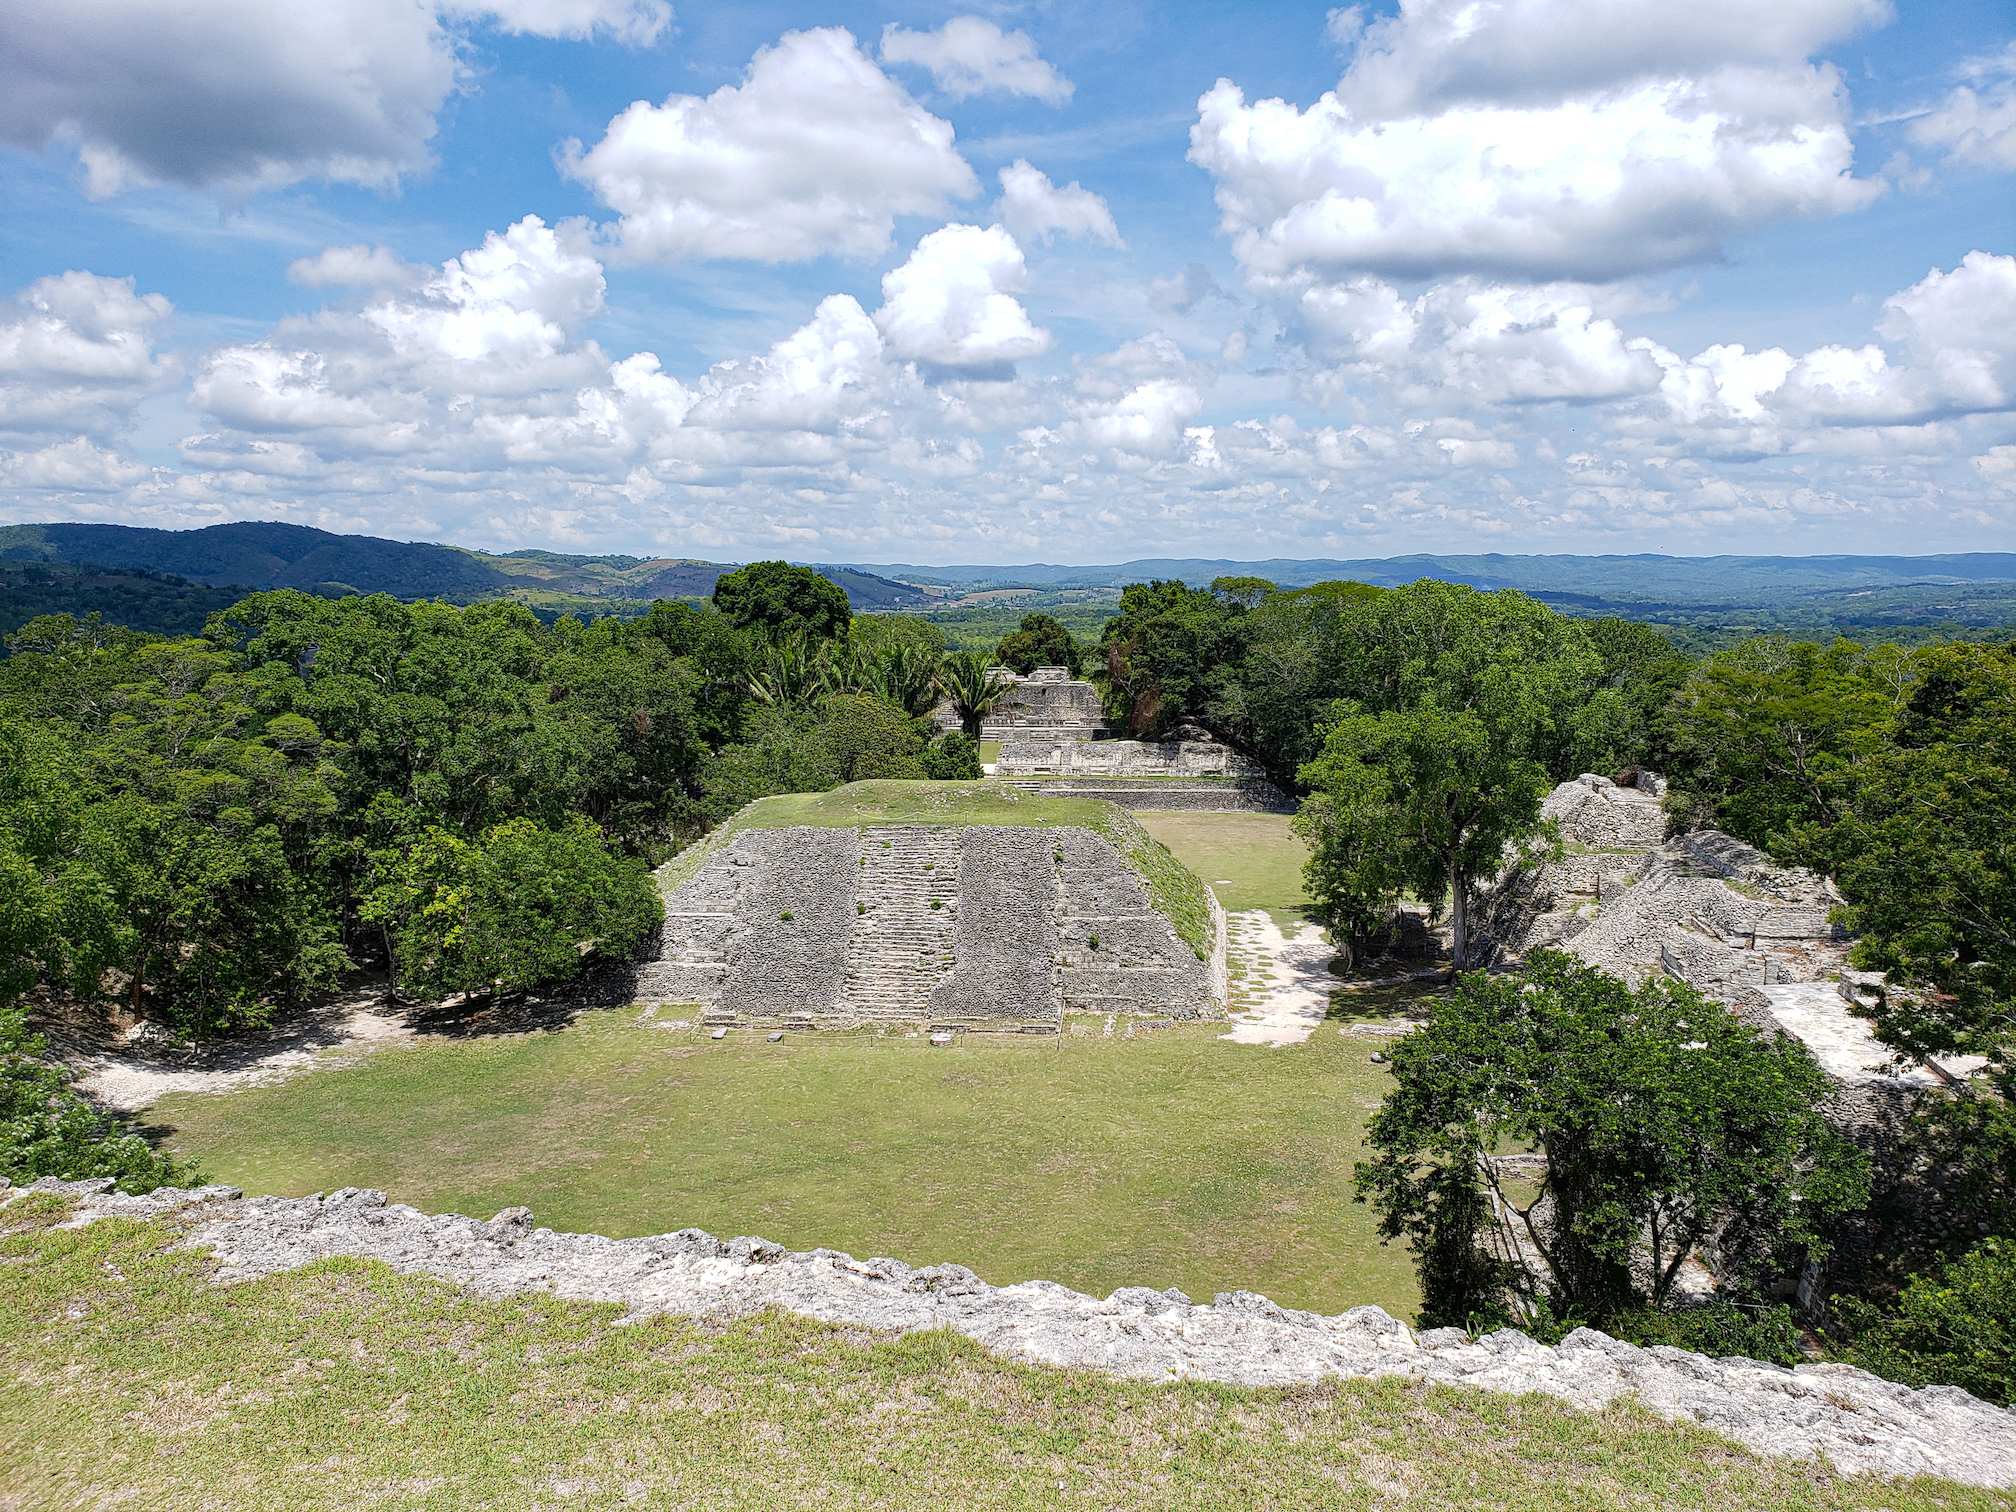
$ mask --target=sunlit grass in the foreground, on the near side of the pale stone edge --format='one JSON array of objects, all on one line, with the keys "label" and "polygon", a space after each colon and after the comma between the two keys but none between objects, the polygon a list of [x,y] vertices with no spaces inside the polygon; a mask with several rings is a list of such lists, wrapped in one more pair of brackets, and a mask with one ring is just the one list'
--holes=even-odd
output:
[{"label": "sunlit grass in the foreground, on the near side of the pale stone edge", "polygon": [[0,1504],[385,1508],[1714,1508],[1988,1512],[1641,1409],[1393,1381],[1153,1387],[950,1333],[617,1322],[331,1260],[218,1288],[167,1222],[0,1214]]}]

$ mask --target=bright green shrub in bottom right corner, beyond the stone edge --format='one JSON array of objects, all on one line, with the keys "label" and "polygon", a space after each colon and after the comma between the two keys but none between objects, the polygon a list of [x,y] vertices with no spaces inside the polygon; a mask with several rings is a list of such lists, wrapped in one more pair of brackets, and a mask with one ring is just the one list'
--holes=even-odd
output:
[{"label": "bright green shrub in bottom right corner, beyond the stone edge", "polygon": [[1835,1298],[1847,1361],[1905,1385],[1958,1385],[2016,1405],[2016,1244],[1984,1240],[1929,1276],[1913,1276],[1893,1312]]}]

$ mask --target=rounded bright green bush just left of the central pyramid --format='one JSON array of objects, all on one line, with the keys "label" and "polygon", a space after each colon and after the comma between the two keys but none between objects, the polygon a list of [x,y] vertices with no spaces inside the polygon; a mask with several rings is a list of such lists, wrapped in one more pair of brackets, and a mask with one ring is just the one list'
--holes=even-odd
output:
[{"label": "rounded bright green bush just left of the central pyramid", "polygon": [[571,982],[591,954],[627,956],[665,917],[645,863],[615,857],[585,818],[514,818],[470,845],[427,831],[365,901],[393,929],[405,992],[526,992]]}]

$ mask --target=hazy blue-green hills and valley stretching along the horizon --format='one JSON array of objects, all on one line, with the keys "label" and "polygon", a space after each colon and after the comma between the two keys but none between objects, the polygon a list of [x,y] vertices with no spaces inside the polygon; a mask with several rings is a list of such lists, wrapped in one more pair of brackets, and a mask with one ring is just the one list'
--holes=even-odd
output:
[{"label": "hazy blue-green hills and valley stretching along the horizon", "polygon": [[[69,577],[16,575],[58,564]],[[97,573],[83,573],[91,566]],[[512,599],[544,621],[641,615],[655,599],[706,599],[732,562],[685,556],[490,554],[433,542],[339,536],[276,520],[147,530],[123,524],[0,526],[0,633],[42,613],[101,613],[117,625],[196,629],[216,595],[252,589],[389,593],[397,599]],[[863,566],[823,562],[857,613],[925,613],[960,645],[988,647],[1030,609],[1097,637],[1115,589],[1147,579],[1262,577],[1284,589],[1337,579],[1435,577],[1518,589],[1566,615],[1665,627],[1689,651],[1744,635],[1804,639],[1982,639],[2016,635],[2016,552],[1943,556],[1381,556],[1137,558],[1109,566]],[[177,579],[179,583],[171,583]],[[937,585],[923,593],[919,585]],[[950,603],[948,603],[948,593]],[[230,593],[226,593],[230,591]]]}]

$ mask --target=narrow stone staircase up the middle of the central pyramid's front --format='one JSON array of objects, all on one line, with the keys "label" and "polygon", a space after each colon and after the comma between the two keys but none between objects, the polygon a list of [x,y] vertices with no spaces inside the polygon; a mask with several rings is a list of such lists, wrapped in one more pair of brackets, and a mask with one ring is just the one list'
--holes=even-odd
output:
[{"label": "narrow stone staircase up the middle of the central pyramid's front", "polygon": [[847,1008],[875,1020],[927,1018],[931,988],[952,970],[960,831],[867,829],[861,861],[863,913],[847,943]]}]

